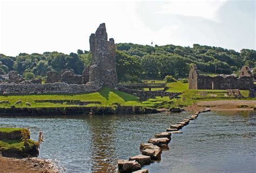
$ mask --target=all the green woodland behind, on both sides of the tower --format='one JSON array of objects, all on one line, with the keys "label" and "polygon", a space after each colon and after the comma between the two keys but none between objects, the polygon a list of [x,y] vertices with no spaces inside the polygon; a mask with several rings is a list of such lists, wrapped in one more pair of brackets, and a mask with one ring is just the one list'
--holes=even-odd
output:
[{"label": "all the green woodland behind, on both sides of the tower", "polygon": [[[174,45],[149,46],[137,44],[116,44],[117,74],[119,82],[136,82],[142,78],[161,78],[171,75],[174,78],[186,78],[190,64],[197,64],[204,73],[231,74],[242,66],[255,67],[256,51],[242,49],[241,52],[221,47],[200,46],[181,47]],[[11,70],[19,74],[33,73],[46,76],[47,71],[60,72],[73,69],[82,74],[83,69],[92,63],[90,52],[77,50],[69,55],[58,52],[43,54],[20,53],[16,57],[0,54],[0,75]],[[255,70],[254,70],[255,71]]]}]

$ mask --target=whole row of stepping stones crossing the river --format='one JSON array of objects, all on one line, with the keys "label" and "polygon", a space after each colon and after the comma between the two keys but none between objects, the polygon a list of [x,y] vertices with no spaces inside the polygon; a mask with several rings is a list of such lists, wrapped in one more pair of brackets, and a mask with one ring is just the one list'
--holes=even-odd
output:
[{"label": "whole row of stepping stones crossing the river", "polygon": [[[208,112],[210,109],[204,109],[201,112]],[[117,160],[118,170],[120,172],[135,172],[135,173],[149,173],[149,170],[142,169],[142,165],[150,164],[152,160],[160,160],[162,149],[169,149],[168,143],[171,141],[172,133],[183,133],[178,131],[183,126],[189,124],[191,120],[194,120],[201,113],[200,111],[194,113],[189,118],[184,118],[175,125],[170,125],[170,128],[166,128],[166,132],[155,134],[155,138],[150,138],[148,143],[140,143],[140,151],[142,154],[133,156],[128,160]]]}]

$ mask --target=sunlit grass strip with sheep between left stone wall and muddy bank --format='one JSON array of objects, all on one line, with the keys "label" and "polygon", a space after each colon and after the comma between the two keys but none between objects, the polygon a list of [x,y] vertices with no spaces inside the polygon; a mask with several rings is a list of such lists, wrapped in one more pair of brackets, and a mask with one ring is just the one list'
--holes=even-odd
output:
[{"label": "sunlit grass strip with sheep between left stone wall and muddy bank", "polygon": [[129,95],[121,91],[110,88],[103,88],[98,92],[80,93],[80,94],[45,94],[45,95],[10,95],[0,96],[0,100],[8,100],[10,104],[0,104],[0,107],[11,107],[15,105],[17,100],[22,100],[22,104],[16,107],[28,107],[26,102],[31,104],[31,107],[66,107],[77,106],[62,103],[43,102],[38,103],[35,100],[80,100],[82,102],[100,102],[100,104],[91,103],[86,106],[112,106],[113,103],[120,103],[122,106],[147,106],[153,107],[168,97],[157,97],[156,99],[149,99],[146,102],[138,102],[138,97]]}]

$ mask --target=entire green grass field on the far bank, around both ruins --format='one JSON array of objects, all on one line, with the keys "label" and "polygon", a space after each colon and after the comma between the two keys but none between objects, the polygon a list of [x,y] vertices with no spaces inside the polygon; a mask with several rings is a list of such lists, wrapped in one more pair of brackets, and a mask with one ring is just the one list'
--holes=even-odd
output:
[{"label": "entire green grass field on the far bank, around both ruins", "polygon": [[[164,81],[156,81],[156,83],[158,82],[164,83]],[[0,104],[0,107],[14,106],[17,100],[22,100],[22,104],[17,104],[16,107],[28,107],[25,104],[26,102],[30,103],[31,107],[70,107],[78,106],[78,104],[72,104],[72,102],[76,102],[77,100],[80,102],[91,102],[86,106],[113,106],[113,103],[119,103],[122,106],[170,107],[187,106],[199,100],[235,99],[227,96],[226,90],[188,90],[188,83],[181,83],[180,81],[168,83],[167,86],[169,89],[166,91],[182,92],[182,95],[172,100],[170,100],[169,97],[156,97],[155,99],[149,99],[145,102],[139,102],[136,96],[110,88],[103,88],[93,93],[0,96],[0,101],[9,101],[9,104]],[[244,97],[248,96],[248,91],[241,91],[241,93]],[[49,101],[39,103],[38,100],[60,100],[63,103],[52,103]]]}]

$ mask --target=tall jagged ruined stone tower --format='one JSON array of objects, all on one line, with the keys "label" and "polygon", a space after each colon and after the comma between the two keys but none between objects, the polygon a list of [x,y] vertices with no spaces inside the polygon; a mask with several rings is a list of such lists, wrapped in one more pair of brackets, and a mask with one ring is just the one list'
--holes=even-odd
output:
[{"label": "tall jagged ruined stone tower", "polygon": [[[107,40],[105,24],[100,24],[95,34],[90,36],[90,51],[92,52],[93,70],[97,71],[98,84],[110,88],[116,88],[118,85],[116,71],[116,46],[114,39]],[[97,67],[95,67],[97,66]],[[91,74],[89,83],[95,80]],[[93,79],[94,78],[94,79]]]}]

